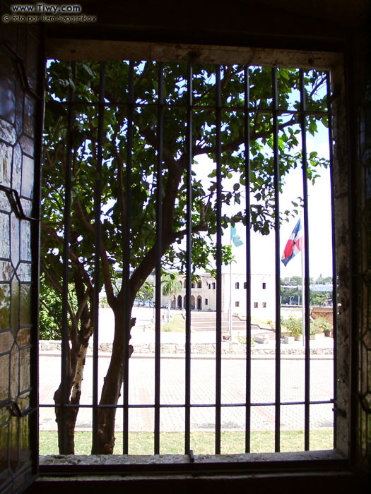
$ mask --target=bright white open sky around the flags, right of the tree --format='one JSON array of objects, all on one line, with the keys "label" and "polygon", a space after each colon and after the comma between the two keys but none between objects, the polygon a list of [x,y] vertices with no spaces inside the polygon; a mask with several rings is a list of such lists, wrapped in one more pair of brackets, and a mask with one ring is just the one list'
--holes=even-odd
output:
[{"label": "bright white open sky around the flags, right of the tree", "polygon": [[[301,143],[299,142],[299,146]],[[319,128],[319,133],[313,138],[307,135],[307,152],[317,151],[321,157],[329,158],[329,138],[326,128]],[[194,165],[194,171],[204,181],[215,164],[208,157],[197,157],[198,165]],[[329,169],[322,168],[319,178],[312,185],[308,181],[308,236],[310,242],[310,277],[317,278],[320,275],[327,277],[332,275],[332,239],[331,239],[331,182]],[[285,177],[283,192],[280,194],[280,210],[292,210],[292,200],[302,197],[302,169],[298,167]],[[225,209],[223,210],[225,212]],[[285,243],[293,231],[298,217],[291,217],[289,222],[283,222],[280,229],[280,257],[285,248]],[[243,246],[232,245],[232,254],[235,263],[232,272],[246,272],[245,242],[246,229],[242,224],[237,224],[237,233],[244,242]],[[223,243],[230,243],[229,231],[223,236]],[[275,274],[275,234],[274,231],[268,236],[251,232],[252,246],[252,273]],[[296,255],[284,266],[281,265],[281,278],[301,276],[301,255]],[[229,272],[230,267],[223,267],[223,272]]]}]

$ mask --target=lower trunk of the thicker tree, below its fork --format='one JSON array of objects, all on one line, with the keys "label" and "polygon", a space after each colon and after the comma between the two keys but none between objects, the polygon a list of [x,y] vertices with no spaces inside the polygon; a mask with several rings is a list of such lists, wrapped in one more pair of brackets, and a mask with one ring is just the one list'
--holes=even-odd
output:
[{"label": "lower trunk of the thicker tree, below its fork", "polygon": [[[118,306],[112,310],[114,311],[114,340],[110,366],[105,376],[100,397],[101,406],[117,405],[124,379],[124,344],[126,341],[124,307]],[[135,319],[131,319],[129,332],[134,324]],[[129,354],[126,358],[129,359],[132,353],[133,347],[129,345]],[[98,454],[113,454],[115,417],[115,406],[98,409]]]}]

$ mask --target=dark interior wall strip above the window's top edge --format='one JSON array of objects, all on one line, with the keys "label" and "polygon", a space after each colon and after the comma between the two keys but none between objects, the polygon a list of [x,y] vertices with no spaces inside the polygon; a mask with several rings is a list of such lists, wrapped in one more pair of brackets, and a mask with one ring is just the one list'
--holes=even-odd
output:
[{"label": "dark interior wall strip above the window's top edge", "polygon": [[365,21],[367,0],[81,1],[97,23],[49,25],[52,37],[336,49]]}]

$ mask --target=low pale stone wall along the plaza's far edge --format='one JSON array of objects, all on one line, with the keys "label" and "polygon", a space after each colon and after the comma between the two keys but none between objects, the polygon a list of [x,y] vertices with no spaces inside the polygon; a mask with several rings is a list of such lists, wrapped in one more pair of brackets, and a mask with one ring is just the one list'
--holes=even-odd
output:
[{"label": "low pale stone wall along the plaza's far edge", "polygon": [[[179,343],[162,343],[160,345],[161,353],[174,355],[174,354],[185,354],[185,345]],[[40,351],[61,351],[61,342],[57,340],[39,342]],[[92,344],[88,347],[88,354],[93,351]],[[112,352],[112,343],[102,343],[100,344],[99,351],[103,354]],[[192,343],[191,344],[192,354],[199,355],[215,355],[216,354],[216,344],[215,343]],[[155,344],[154,343],[141,343],[134,345],[134,356],[136,354],[155,354]],[[242,343],[234,342],[222,342],[222,354],[223,355],[243,355],[246,354],[246,346]],[[252,347],[252,355],[275,355],[276,350],[274,348],[256,348]],[[283,355],[302,355],[304,354],[304,348],[300,347],[285,347],[281,346],[281,354]],[[310,350],[311,355],[332,355],[334,350],[332,348],[312,348]]]}]

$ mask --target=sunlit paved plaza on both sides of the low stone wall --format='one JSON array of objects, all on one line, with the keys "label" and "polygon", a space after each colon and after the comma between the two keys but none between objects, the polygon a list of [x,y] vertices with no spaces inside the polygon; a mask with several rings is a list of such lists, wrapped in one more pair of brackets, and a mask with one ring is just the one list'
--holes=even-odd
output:
[{"label": "sunlit paved plaza on both sides of the low stone wall", "polygon": [[[155,400],[155,359],[153,354],[138,354],[141,345],[155,342],[155,332],[151,329],[153,309],[136,308],[133,314],[136,325],[131,330],[131,344],[134,354],[129,360],[129,404],[139,405],[129,409],[129,430],[133,432],[153,431]],[[112,311],[100,311],[99,343],[112,343],[114,320]],[[252,335],[261,333],[253,329]],[[243,336],[244,332],[242,332]],[[237,342],[240,332],[232,332],[232,342]],[[274,430],[275,407],[275,342],[269,335],[267,344],[254,344],[255,349],[270,349],[270,355],[252,356],[251,368],[251,430]],[[161,332],[161,342],[184,344],[184,333]],[[216,332],[193,331],[192,344],[215,343]],[[311,341],[311,349],[331,351],[334,340],[325,338]],[[228,345],[228,342],[223,345]],[[289,345],[282,344],[282,349]],[[302,402],[305,395],[305,361],[302,342],[295,342],[290,348],[302,352],[297,355],[283,355],[281,360],[281,402]],[[325,352],[324,352],[325,353]],[[99,356],[98,397],[103,379],[110,363],[110,351],[102,351]],[[40,352],[40,404],[53,404],[53,395],[60,382],[61,363],[58,351]],[[93,401],[92,391],[93,357],[91,351],[86,358],[82,385],[81,404],[89,405]],[[216,402],[216,360],[214,354],[192,354],[191,366],[191,427],[192,430],[215,430]],[[333,360],[331,354],[312,355],[310,362],[310,400],[325,401],[333,397]],[[243,355],[228,355],[222,358],[221,402],[222,404],[240,404],[223,406],[221,411],[222,430],[245,430],[246,402],[246,359]],[[171,405],[160,411],[160,427],[163,432],[181,432],[184,430],[184,354],[162,355],[160,364],[160,403]],[[122,403],[122,402],[120,402]],[[148,407],[140,407],[149,405]],[[178,406],[176,406],[178,405]],[[210,405],[210,406],[205,406]],[[310,406],[311,428],[333,426],[334,412],[332,404],[313,404]],[[78,413],[76,430],[91,430],[92,411],[81,408]],[[118,409],[117,430],[122,430],[122,410]],[[304,429],[304,406],[281,406],[281,429]],[[40,430],[57,430],[54,408],[40,408]]]}]

